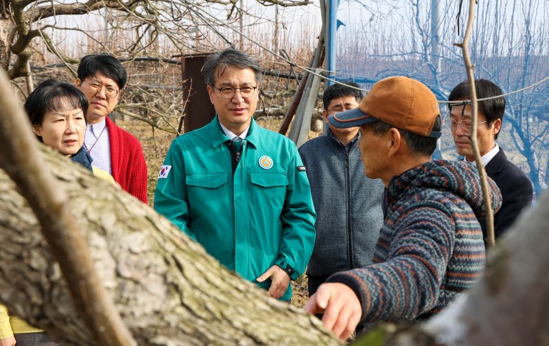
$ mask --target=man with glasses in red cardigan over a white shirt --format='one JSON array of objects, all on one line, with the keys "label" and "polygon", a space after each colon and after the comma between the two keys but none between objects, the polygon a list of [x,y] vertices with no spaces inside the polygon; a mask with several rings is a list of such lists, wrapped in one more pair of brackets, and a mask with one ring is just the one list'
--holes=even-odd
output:
[{"label": "man with glasses in red cardigan over a white shirt", "polygon": [[86,55],[80,60],[76,87],[89,101],[84,145],[93,166],[113,175],[124,190],[147,203],[147,164],[141,143],[107,117],[127,79],[126,69],[111,55]]}]

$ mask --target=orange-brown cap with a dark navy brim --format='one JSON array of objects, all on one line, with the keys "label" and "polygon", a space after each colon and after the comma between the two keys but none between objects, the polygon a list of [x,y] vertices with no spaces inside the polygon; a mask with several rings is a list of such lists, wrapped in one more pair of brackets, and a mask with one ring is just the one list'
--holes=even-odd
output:
[{"label": "orange-brown cap with a dark navy brim", "polygon": [[425,84],[397,76],[380,80],[358,108],[331,115],[328,121],[335,127],[355,127],[379,120],[412,134],[439,138],[441,132],[433,127],[440,115],[439,103]]}]

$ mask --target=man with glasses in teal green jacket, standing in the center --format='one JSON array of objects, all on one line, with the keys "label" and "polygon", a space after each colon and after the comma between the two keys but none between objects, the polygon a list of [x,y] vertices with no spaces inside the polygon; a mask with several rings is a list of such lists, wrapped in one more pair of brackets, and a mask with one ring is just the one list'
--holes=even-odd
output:
[{"label": "man with glasses in teal green jacket, standing in the center", "polygon": [[236,49],[204,64],[217,116],[174,140],[159,173],[154,209],[244,279],[290,300],[307,266],[314,212],[294,143],[253,120],[259,64]]}]

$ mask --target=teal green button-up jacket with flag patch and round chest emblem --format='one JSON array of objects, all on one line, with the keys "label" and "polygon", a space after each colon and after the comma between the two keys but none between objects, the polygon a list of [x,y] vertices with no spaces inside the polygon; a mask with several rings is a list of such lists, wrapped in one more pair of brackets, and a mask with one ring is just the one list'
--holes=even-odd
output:
[{"label": "teal green button-up jacket with flag patch and round chest emblem", "polygon": [[[244,279],[278,264],[292,280],[314,246],[314,212],[294,143],[257,125],[243,140],[233,176],[229,138],[217,116],[174,140],[159,174],[154,209]],[[291,286],[281,300],[292,297]]]}]

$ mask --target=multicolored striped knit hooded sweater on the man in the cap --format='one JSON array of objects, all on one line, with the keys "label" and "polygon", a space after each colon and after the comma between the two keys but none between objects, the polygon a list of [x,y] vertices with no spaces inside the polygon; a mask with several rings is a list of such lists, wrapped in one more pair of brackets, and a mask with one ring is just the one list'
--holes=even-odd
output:
[{"label": "multicolored striped knit hooded sweater on the man in the cap", "polygon": [[[500,190],[489,180],[492,206]],[[414,321],[436,314],[470,288],[484,267],[477,217],[482,191],[467,162],[427,162],[393,177],[374,264],[331,275],[362,305],[362,321]]]}]

